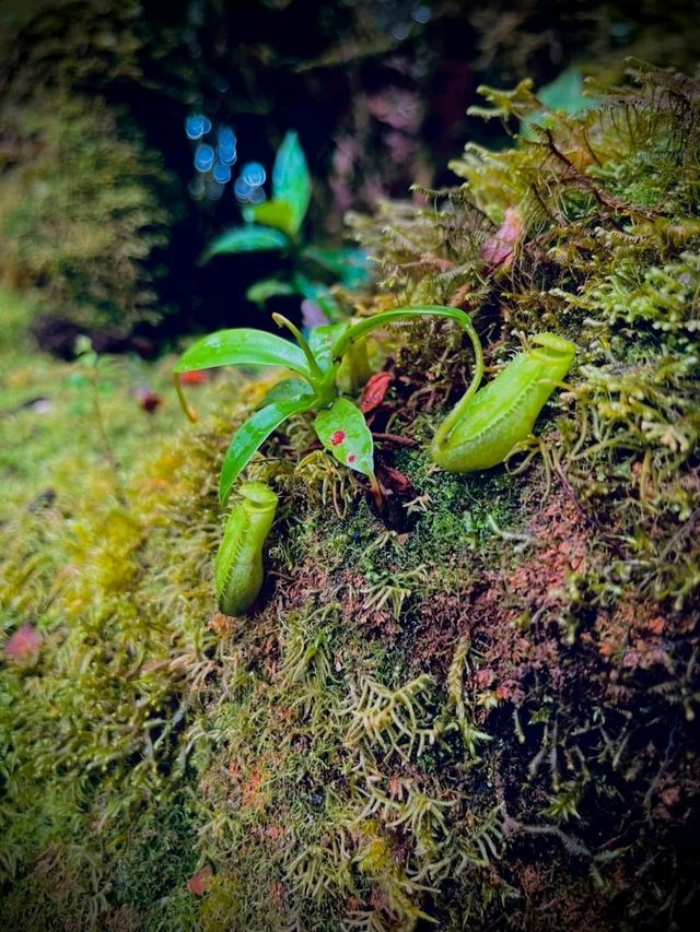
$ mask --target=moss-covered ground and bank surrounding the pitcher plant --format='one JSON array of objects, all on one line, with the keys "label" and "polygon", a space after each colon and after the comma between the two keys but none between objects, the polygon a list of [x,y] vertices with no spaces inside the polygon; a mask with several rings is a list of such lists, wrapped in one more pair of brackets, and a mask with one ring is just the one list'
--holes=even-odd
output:
[{"label": "moss-covered ground and bank surrounding the pitcher plant", "polygon": [[[491,101],[539,111],[526,85]],[[8,928],[692,925],[699,102],[642,69],[529,143],[467,149],[434,209],[355,221],[387,274],[360,312],[459,305],[489,366],[544,329],[576,361],[537,439],[455,475],[425,440],[469,356],[400,330],[371,416],[385,514],[292,420],[248,469],[281,506],[246,617],[217,612],[215,484],[261,389],[192,387],[200,423],[175,426],[167,359],[148,414],[136,364],[16,376],[13,351]],[[40,645],[8,651],[25,624]]]}]

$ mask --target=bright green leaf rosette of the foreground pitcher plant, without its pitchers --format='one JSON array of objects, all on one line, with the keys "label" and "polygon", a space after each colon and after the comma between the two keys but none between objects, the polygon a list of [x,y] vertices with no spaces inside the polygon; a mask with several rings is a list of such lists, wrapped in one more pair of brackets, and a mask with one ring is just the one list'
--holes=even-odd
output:
[{"label": "bright green leaf rosette of the foreground pitcher plant, without its pitchers", "polygon": [[377,327],[396,320],[430,316],[446,317],[460,323],[479,355],[480,344],[470,318],[452,307],[401,307],[376,314],[354,325],[345,322],[315,327],[306,340],[287,318],[279,314],[272,316],[279,326],[292,332],[296,344],[261,330],[220,330],[190,346],[175,367],[175,387],[185,413],[192,421],[196,414],[185,401],[180,373],[231,365],[280,366],[294,373],[295,378],[276,386],[267,403],[233,435],[219,481],[222,504],[241,472],[270,434],[293,414],[317,411],[314,426],[318,439],[338,462],[368,476],[381,507],[382,493],[374,473],[372,434],[360,409],[339,396],[336,377],[342,358],[359,340]]}]

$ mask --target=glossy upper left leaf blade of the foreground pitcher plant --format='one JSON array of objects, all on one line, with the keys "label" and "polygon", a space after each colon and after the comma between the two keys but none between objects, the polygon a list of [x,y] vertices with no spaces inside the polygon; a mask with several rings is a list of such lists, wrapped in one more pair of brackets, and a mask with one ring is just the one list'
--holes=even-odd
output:
[{"label": "glossy upper left leaf blade of the foreground pitcher plant", "polygon": [[211,369],[214,366],[283,366],[310,378],[306,357],[294,343],[262,330],[218,330],[186,350],[176,373]]}]

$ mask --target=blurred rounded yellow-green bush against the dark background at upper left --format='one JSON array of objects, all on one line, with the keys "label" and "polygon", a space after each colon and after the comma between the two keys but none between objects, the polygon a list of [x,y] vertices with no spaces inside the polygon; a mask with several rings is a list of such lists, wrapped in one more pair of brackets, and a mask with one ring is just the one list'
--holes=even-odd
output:
[{"label": "blurred rounded yellow-green bush against the dark background at upper left", "polygon": [[176,211],[173,178],[143,140],[119,138],[100,98],[35,93],[2,110],[0,246],[5,280],[44,311],[128,331],[163,315],[152,288]]}]

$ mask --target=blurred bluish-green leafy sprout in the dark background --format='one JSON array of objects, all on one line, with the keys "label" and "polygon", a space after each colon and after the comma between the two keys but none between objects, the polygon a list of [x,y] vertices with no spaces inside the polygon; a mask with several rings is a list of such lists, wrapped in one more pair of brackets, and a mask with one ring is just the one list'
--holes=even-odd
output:
[{"label": "blurred bluish-green leafy sprout in the dark background", "polygon": [[262,306],[271,297],[300,295],[314,302],[329,320],[339,320],[341,311],[330,288],[319,281],[329,275],[353,290],[368,284],[370,272],[362,249],[324,249],[304,244],[301,228],[308,211],[312,186],[306,156],[295,132],[290,131],[280,145],[272,169],[272,198],[250,204],[243,215],[245,224],[215,237],[203,253],[205,261],[220,255],[278,251],[291,259],[290,280],[280,276],[253,284],[246,296]]}]

